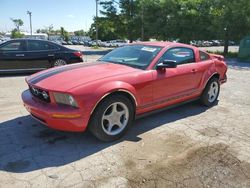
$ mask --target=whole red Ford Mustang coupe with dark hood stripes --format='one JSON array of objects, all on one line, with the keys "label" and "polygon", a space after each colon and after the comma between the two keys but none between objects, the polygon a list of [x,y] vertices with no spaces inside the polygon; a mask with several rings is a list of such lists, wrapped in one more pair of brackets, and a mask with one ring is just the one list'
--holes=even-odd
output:
[{"label": "whole red Ford Mustang coupe with dark hood stripes", "polygon": [[52,68],[26,78],[24,106],[47,126],[120,138],[135,116],[200,99],[212,106],[226,82],[223,56],[180,43],[117,48],[95,63]]}]

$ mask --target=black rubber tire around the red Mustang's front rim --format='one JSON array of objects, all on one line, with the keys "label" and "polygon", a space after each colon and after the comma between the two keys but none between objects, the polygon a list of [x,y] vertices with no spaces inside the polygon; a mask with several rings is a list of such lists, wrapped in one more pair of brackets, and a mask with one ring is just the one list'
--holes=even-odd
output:
[{"label": "black rubber tire around the red Mustang's front rim", "polygon": [[[106,120],[103,120],[103,117],[105,116],[107,111],[110,110],[109,108],[111,108],[111,106],[114,104],[118,104],[118,107],[120,104],[124,104],[126,106],[126,109],[128,110],[127,111],[128,118],[126,119],[125,122],[127,123],[124,123],[125,126],[123,129],[121,129],[121,132],[114,134],[114,135],[110,135],[107,133],[107,130],[106,130],[107,128],[104,125],[105,123],[104,121]],[[111,141],[117,140],[121,138],[125,134],[125,132],[128,130],[128,128],[132,125],[133,120],[134,120],[134,112],[135,112],[134,105],[127,97],[123,95],[119,95],[119,94],[108,96],[103,101],[101,101],[100,104],[97,106],[97,108],[94,110],[91,116],[89,130],[96,138],[98,138],[101,141],[111,142]],[[118,118],[119,121],[121,121],[121,118],[123,117]],[[116,125],[113,127],[118,127],[119,129],[119,126],[116,126]]]}]

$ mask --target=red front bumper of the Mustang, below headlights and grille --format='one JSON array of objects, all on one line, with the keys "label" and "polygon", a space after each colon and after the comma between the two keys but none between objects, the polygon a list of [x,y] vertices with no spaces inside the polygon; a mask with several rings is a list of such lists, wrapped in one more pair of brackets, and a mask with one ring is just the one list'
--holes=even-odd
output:
[{"label": "red front bumper of the Mustang, below headlights and grille", "polygon": [[22,93],[22,100],[31,116],[50,128],[82,132],[87,127],[89,118],[80,109],[40,101],[29,90]]}]

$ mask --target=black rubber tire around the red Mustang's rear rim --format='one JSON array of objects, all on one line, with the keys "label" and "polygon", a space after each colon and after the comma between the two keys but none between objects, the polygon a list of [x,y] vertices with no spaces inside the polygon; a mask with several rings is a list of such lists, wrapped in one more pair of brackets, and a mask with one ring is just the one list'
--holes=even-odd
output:
[{"label": "black rubber tire around the red Mustang's rear rim", "polygon": [[[210,97],[210,95],[209,95],[209,91],[210,91],[210,88],[212,85],[218,86],[218,91],[216,92],[216,94],[214,95],[213,98]],[[203,105],[205,105],[207,107],[213,106],[217,102],[219,94],[220,94],[219,80],[218,80],[218,78],[213,77],[208,81],[208,83],[207,83],[207,85],[206,85],[206,87],[201,95],[200,101]]]}]

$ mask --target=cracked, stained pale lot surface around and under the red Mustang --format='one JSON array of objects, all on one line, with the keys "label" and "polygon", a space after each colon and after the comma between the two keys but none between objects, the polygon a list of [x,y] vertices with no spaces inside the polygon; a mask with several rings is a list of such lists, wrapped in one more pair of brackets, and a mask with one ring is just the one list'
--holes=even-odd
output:
[{"label": "cracked, stained pale lot surface around and under the red Mustang", "polygon": [[1,77],[0,187],[250,187],[250,64],[227,63],[216,106],[139,119],[114,143],[41,125],[22,106],[25,76]]}]

